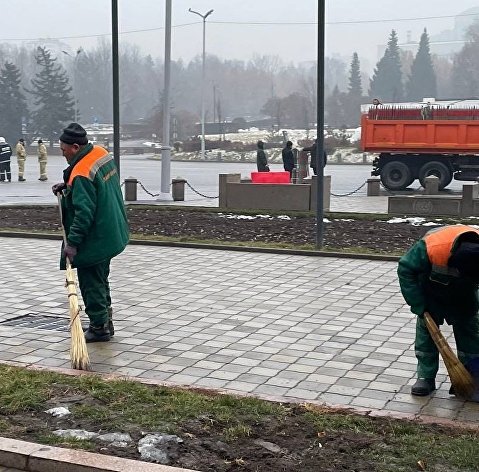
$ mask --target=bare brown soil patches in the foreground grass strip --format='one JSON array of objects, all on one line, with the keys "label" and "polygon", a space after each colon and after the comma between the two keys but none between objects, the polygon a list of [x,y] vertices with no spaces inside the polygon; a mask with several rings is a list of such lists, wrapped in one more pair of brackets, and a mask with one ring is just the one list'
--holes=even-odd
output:
[{"label": "bare brown soil patches in the foreground grass strip", "polygon": [[[51,398],[48,403],[64,404],[61,396]],[[94,404],[95,400],[89,398],[72,402],[68,406],[74,410],[75,406]],[[390,430],[391,420],[375,418],[373,421],[378,433],[365,434],[346,428],[342,431],[318,431],[305,419],[301,407],[289,406],[289,413],[281,420],[273,416],[262,417],[248,435],[234,439],[225,439],[225,425],[210,421],[209,418],[186,421],[174,431],[183,442],[168,450],[167,464],[201,472],[380,472],[383,467],[378,463],[377,454],[388,452],[389,456],[395,455],[394,438],[386,432]],[[57,429],[84,429],[101,434],[118,432],[105,429],[99,431],[101,426],[95,422],[70,416],[53,418],[44,412],[26,412],[4,416],[3,419],[10,428],[1,429],[2,436],[30,442],[50,442],[45,438]],[[133,442],[118,447],[97,440],[83,444],[68,441],[62,443],[57,438],[55,445],[141,460],[136,444],[144,432],[129,424],[123,425],[121,432],[129,433]],[[454,436],[452,430],[438,425],[423,426],[423,433]]]}]

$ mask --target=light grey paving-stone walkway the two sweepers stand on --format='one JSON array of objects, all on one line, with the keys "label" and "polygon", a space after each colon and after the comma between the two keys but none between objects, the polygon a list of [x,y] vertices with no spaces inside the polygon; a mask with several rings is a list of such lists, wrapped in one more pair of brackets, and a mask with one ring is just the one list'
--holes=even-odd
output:
[{"label": "light grey paving-stone walkway the two sweepers stand on", "polygon": [[[59,242],[0,251],[0,362],[69,368]],[[131,245],[111,286],[116,333],[89,345],[95,372],[479,423],[444,368],[430,398],[410,395],[415,317],[394,262]],[[32,314],[64,330],[5,325]]]}]

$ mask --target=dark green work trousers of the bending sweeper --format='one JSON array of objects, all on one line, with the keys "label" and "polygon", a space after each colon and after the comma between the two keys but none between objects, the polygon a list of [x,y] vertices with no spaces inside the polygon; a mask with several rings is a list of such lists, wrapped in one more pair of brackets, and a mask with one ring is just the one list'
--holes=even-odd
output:
[{"label": "dark green work trousers of the bending sweeper", "polygon": [[[436,323],[443,324],[443,319]],[[452,324],[456,340],[457,357],[466,365],[471,359],[479,357],[479,316],[461,319]],[[417,317],[415,351],[418,378],[434,379],[439,369],[439,351],[427,330],[424,318]]]}]

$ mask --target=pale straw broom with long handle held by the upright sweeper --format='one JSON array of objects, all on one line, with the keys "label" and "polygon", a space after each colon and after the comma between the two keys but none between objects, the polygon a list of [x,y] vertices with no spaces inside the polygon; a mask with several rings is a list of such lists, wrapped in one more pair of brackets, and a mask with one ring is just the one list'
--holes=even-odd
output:
[{"label": "pale straw broom with long handle held by the upright sweeper", "polygon": [[[58,208],[60,211],[60,222],[63,232],[63,244],[67,244],[67,238],[65,234],[65,227],[63,226],[62,219],[62,196],[57,193]],[[71,333],[71,345],[70,345],[70,360],[73,369],[78,370],[90,370],[90,358],[88,356],[88,349],[86,347],[85,335],[83,334],[83,328],[81,326],[80,319],[80,305],[78,303],[78,293],[76,289],[75,272],[68,257],[66,258],[66,287],[68,291],[68,303],[70,305],[70,333]]]}]

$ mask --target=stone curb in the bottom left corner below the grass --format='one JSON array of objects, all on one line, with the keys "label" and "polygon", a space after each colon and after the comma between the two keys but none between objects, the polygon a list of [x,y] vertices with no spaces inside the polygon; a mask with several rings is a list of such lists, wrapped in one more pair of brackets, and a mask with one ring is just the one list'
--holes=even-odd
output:
[{"label": "stone curb in the bottom left corner below the grass", "polygon": [[0,465],[24,472],[198,472],[1,437]]}]

